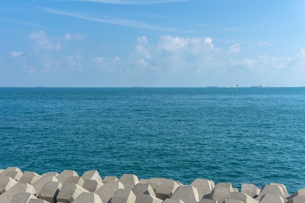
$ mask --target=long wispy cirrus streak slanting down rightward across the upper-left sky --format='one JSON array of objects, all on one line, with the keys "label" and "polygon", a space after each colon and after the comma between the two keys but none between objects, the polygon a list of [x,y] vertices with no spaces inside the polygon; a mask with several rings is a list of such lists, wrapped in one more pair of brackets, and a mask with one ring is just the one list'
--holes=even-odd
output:
[{"label": "long wispy cirrus streak slanting down rightward across the upper-left sky", "polygon": [[169,27],[160,27],[156,25],[147,24],[145,22],[137,21],[137,20],[129,20],[129,19],[121,19],[121,18],[96,18],[96,17],[89,17],[85,15],[80,15],[76,13],[70,13],[60,10],[55,10],[51,8],[46,7],[39,7],[42,10],[57,14],[61,16],[68,16],[72,18],[79,18],[84,20],[90,20],[95,22],[102,22],[102,23],[108,23],[108,24],[114,24],[114,25],[120,25],[120,26],[126,26],[126,27],[133,27],[133,28],[142,28],[142,29],[148,29],[148,30],[158,30],[158,31],[165,31],[165,32],[176,32],[175,29],[169,28]]}]

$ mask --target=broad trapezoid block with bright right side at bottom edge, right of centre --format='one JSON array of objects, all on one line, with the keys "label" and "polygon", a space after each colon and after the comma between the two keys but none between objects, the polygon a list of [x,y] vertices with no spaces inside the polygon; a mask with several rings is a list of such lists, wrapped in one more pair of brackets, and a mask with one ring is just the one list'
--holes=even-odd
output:
[{"label": "broad trapezoid block with bright right side at bottom edge, right of centre", "polygon": [[173,193],[172,199],[182,200],[185,203],[198,203],[199,196],[198,191],[193,186],[181,185],[178,189]]}]

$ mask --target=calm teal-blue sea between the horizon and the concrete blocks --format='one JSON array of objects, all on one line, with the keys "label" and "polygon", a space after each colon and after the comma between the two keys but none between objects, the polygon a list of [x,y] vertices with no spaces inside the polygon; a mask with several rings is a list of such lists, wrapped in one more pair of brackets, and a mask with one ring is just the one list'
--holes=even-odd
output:
[{"label": "calm teal-blue sea between the horizon and the concrete blocks", "polygon": [[0,168],[305,188],[305,88],[0,88]]}]

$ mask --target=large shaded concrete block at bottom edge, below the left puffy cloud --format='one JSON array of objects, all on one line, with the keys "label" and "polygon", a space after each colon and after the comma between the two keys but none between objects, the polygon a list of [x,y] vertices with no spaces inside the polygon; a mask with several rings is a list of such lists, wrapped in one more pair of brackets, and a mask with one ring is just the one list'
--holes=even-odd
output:
[{"label": "large shaded concrete block at bottom edge, below the left puffy cloud", "polygon": [[57,195],[61,189],[61,183],[59,182],[47,182],[44,184],[40,190],[38,198],[41,200],[48,201],[50,203],[56,203]]}]

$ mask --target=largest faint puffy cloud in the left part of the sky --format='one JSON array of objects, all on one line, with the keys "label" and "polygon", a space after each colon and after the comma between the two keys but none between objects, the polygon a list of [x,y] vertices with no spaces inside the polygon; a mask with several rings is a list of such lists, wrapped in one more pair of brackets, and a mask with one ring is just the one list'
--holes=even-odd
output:
[{"label": "largest faint puffy cloud in the left part of the sky", "polygon": [[60,50],[61,43],[59,42],[51,42],[49,37],[47,37],[46,33],[42,30],[31,33],[29,36],[32,41],[33,48],[35,50]]}]

